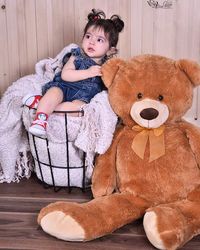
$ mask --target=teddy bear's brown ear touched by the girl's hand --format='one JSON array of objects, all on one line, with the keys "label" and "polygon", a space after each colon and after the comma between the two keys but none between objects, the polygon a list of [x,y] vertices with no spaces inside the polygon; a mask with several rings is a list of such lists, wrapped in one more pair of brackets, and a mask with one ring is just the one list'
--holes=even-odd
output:
[{"label": "teddy bear's brown ear touched by the girl's hand", "polygon": [[102,66],[102,79],[107,88],[109,88],[120,68],[120,66],[124,65],[125,61],[119,58],[113,58],[108,60]]}]

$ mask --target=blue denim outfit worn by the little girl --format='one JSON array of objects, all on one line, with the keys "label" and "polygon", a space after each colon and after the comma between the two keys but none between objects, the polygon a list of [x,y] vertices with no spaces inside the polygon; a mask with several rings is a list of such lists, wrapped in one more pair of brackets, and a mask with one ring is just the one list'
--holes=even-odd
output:
[{"label": "blue denim outfit worn by the little girl", "polygon": [[[97,65],[91,58],[83,54],[80,48],[72,49],[75,56],[74,65],[77,70],[88,69]],[[42,94],[52,87],[58,87],[63,92],[63,102],[81,100],[89,103],[90,100],[103,89],[105,89],[101,77],[96,76],[77,82],[67,82],[61,79],[61,73],[55,75],[53,81],[48,82],[42,88]]]}]

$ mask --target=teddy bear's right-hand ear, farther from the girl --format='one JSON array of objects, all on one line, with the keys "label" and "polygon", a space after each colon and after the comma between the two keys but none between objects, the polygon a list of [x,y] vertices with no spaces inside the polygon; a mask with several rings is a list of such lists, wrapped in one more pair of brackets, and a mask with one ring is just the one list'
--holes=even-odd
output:
[{"label": "teddy bear's right-hand ear, farther from the girl", "polygon": [[200,85],[200,65],[198,63],[181,59],[176,62],[176,65],[184,71],[194,86]]}]

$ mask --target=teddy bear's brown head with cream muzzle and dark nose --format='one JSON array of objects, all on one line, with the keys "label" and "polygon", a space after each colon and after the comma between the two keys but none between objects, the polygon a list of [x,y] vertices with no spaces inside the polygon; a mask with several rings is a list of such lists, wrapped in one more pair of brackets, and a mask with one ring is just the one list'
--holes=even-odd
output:
[{"label": "teddy bear's brown head with cream muzzle and dark nose", "polygon": [[141,55],[111,59],[102,67],[109,101],[127,126],[157,128],[176,122],[192,105],[200,66],[189,60]]}]

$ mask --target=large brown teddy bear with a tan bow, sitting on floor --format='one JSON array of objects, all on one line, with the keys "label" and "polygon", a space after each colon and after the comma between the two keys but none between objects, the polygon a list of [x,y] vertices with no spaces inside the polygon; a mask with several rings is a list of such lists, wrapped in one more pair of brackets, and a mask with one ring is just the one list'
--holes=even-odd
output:
[{"label": "large brown teddy bear with a tan bow, sitting on floor", "polygon": [[59,239],[88,241],[144,216],[156,248],[179,248],[200,233],[200,129],[181,119],[200,85],[200,66],[141,55],[111,59],[102,70],[122,123],[97,158],[94,199],[52,203],[38,223]]}]

